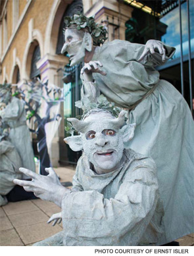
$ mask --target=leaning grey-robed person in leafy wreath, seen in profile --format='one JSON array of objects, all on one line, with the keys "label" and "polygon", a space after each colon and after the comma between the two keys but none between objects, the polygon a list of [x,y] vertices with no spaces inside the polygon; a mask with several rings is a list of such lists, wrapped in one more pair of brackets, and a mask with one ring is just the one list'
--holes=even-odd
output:
[{"label": "leaning grey-robed person in leafy wreath, seen in profile", "polygon": [[[174,55],[174,47],[155,40],[145,45],[114,40],[99,46],[105,29],[92,17],[74,15],[65,22],[62,53],[68,52],[71,65],[84,61],[82,74],[91,76],[84,81],[82,95],[95,99],[100,90],[109,101],[128,109],[128,122],[136,123],[128,147],[149,155],[157,165],[166,229],[160,243],[192,233],[193,118],[182,95],[155,70]],[[95,88],[88,82],[92,79]]]}]

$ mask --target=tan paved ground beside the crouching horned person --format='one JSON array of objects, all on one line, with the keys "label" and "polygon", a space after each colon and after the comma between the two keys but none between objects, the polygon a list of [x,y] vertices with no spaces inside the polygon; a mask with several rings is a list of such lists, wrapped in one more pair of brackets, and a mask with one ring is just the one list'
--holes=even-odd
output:
[{"label": "tan paved ground beside the crouching horned person", "polygon": [[[75,173],[72,166],[58,167],[55,171],[62,184],[70,188],[70,182]],[[62,230],[62,223],[52,226],[47,220],[61,208],[54,203],[41,199],[18,201],[0,207],[0,245],[1,246],[31,246]],[[176,240],[181,246],[193,246],[194,234],[183,236]]]}]

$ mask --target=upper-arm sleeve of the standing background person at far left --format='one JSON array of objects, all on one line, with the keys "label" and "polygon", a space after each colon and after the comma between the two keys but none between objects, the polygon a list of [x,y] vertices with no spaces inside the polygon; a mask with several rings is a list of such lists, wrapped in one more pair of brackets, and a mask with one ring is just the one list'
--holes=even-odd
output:
[{"label": "upper-arm sleeve of the standing background person at far left", "polygon": [[22,114],[23,107],[24,106],[22,102],[20,102],[20,100],[11,101],[11,103],[9,103],[7,107],[3,109],[3,111],[1,111],[0,115],[3,118],[3,122],[18,120],[18,118],[20,118],[20,115]]}]

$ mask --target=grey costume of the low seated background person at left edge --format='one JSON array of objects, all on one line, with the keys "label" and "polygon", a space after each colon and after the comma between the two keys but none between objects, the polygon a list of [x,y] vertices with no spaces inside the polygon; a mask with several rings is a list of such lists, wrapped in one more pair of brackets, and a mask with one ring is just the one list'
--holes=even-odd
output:
[{"label": "grey costume of the low seated background person at left edge", "polygon": [[[22,161],[14,145],[10,141],[0,141],[0,197],[7,195],[12,188],[14,178],[22,178],[18,169],[22,166]],[[0,206],[3,205],[3,197],[0,198]]]}]

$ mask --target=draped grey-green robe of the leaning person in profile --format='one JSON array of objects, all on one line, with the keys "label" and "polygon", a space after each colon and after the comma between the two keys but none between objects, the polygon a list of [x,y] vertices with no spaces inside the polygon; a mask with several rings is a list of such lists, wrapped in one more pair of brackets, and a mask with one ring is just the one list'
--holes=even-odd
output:
[{"label": "draped grey-green robe of the leaning person in profile", "polygon": [[[174,48],[165,48],[166,56],[172,57]],[[143,49],[144,45],[128,41],[103,44],[92,61],[101,61],[107,76],[93,73],[93,78],[109,101],[127,109],[155,86],[129,112],[129,123],[137,124],[129,147],[149,155],[157,165],[166,228],[161,244],[193,232],[194,124],[182,95],[159,79],[154,66],[162,64],[160,55],[137,62]]]}]

